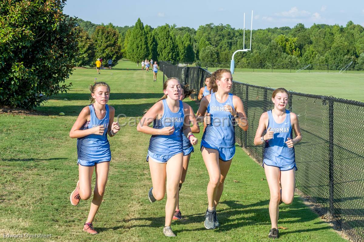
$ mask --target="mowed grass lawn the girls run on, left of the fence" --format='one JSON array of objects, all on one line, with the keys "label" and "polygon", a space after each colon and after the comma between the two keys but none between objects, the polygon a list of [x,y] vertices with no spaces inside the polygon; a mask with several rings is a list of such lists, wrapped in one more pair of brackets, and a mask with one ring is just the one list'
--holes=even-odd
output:
[{"label": "mowed grass lawn the girls run on, left of the fence", "polygon": [[[269,190],[264,170],[239,147],[218,206],[221,227],[203,227],[209,177],[199,144],[180,193],[183,220],[172,223],[177,238],[165,238],[165,199],[151,204],[147,198],[151,179],[145,157],[150,136],[137,132],[135,126],[124,126],[110,138],[110,175],[94,221],[99,234],[82,231],[91,200],[76,207],[70,204],[78,168],[76,139],[68,137],[68,132],[88,105],[88,85],[95,78],[110,84],[109,104],[116,114],[140,117],[162,96],[162,74],[153,82],[152,72],[123,70],[132,66],[122,61],[118,69],[102,70],[99,75],[95,69],[76,69],[69,80],[73,83],[70,91],[37,109],[46,115],[0,115],[0,235],[52,234],[51,239],[29,241],[72,242],[271,241],[267,237]],[[197,110],[195,102],[187,103]],[[59,112],[66,115],[59,116]],[[199,140],[201,136],[197,135]],[[280,208],[279,225],[287,228],[280,230],[280,241],[345,241],[297,195],[292,205]]]}]

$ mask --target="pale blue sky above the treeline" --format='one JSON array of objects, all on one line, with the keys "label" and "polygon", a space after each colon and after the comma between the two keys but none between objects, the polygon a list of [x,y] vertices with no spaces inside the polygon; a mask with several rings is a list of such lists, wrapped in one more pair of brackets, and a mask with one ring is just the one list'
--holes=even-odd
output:
[{"label": "pale blue sky above the treeline", "polygon": [[[337,3],[336,3],[337,2]],[[364,26],[364,0],[352,1],[246,1],[242,0],[67,0],[64,13],[96,24],[134,25],[138,17],[155,28],[165,23],[197,29],[208,23],[230,24],[233,28],[305,27],[316,24],[346,25],[349,20]]]}]

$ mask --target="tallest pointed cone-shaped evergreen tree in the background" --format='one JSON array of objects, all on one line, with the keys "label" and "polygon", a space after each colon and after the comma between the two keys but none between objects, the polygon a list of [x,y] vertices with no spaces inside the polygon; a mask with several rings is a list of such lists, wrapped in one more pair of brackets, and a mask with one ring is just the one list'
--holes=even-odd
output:
[{"label": "tallest pointed cone-shaped evergreen tree in the background", "polygon": [[128,59],[137,63],[138,66],[139,62],[148,57],[147,36],[143,23],[139,18],[130,33],[126,53]]}]

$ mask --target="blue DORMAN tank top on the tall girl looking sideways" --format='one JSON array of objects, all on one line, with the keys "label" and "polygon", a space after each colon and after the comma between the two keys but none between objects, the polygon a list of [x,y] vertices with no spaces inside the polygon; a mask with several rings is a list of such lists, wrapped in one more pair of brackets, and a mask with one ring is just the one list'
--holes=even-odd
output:
[{"label": "blue DORMAN tank top on the tall girl looking sideways", "polygon": [[211,124],[206,126],[202,140],[218,148],[231,148],[235,145],[235,127],[233,125],[235,120],[230,112],[223,111],[223,106],[226,104],[235,110],[233,94],[229,93],[227,100],[220,103],[216,100],[215,93],[212,93],[207,106],[207,113],[211,114]]}]

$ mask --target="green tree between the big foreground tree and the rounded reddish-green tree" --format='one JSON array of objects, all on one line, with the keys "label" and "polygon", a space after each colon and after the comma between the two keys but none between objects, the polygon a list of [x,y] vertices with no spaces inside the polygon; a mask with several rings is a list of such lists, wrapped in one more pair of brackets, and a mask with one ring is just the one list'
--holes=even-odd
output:
[{"label": "green tree between the big foreground tree and the rounded reddish-green tree", "polygon": [[82,28],[77,28],[79,32],[78,55],[75,61],[76,66],[93,66],[95,60],[95,46],[88,33]]}]

